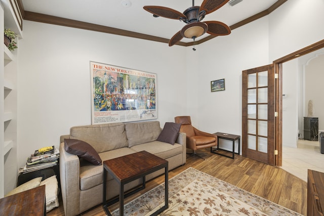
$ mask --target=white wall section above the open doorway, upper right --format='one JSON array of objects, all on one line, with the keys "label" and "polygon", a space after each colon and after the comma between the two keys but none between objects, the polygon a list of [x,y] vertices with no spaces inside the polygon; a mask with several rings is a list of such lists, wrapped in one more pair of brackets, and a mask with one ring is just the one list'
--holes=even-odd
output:
[{"label": "white wall section above the open doorway, upper right", "polygon": [[269,15],[269,61],[322,40],[323,8],[322,0],[293,0],[273,11]]}]

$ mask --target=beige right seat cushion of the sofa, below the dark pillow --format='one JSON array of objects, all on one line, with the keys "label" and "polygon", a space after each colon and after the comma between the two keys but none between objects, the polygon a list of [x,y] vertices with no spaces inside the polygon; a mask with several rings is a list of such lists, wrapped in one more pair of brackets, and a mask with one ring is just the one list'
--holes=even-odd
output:
[{"label": "beige right seat cushion of the sofa, below the dark pillow", "polygon": [[175,143],[174,145],[170,145],[169,143],[153,141],[150,143],[143,143],[140,145],[136,145],[131,147],[131,149],[139,152],[139,151],[147,151],[151,154],[154,154],[160,158],[167,159],[177,154],[183,153],[183,146]]}]

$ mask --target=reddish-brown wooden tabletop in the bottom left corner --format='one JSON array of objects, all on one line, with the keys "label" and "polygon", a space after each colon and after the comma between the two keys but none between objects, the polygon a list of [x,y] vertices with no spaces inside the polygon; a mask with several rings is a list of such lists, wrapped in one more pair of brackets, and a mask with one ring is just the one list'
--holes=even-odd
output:
[{"label": "reddish-brown wooden tabletop in the bottom left corner", "polygon": [[0,199],[1,215],[46,215],[45,185]]}]

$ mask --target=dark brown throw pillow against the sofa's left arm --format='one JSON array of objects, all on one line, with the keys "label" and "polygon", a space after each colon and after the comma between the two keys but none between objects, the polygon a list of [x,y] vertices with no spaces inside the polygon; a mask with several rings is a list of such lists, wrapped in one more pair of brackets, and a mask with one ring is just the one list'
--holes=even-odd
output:
[{"label": "dark brown throw pillow against the sofa's left arm", "polygon": [[75,154],[79,158],[91,162],[94,165],[101,165],[101,158],[96,150],[88,143],[82,140],[65,139],[64,149],[67,153]]}]

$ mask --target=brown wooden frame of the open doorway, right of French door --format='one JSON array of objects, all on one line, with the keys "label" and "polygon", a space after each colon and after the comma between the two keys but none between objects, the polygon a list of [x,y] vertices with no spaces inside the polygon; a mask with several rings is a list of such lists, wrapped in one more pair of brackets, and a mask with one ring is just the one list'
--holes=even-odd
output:
[{"label": "brown wooden frame of the open doorway, right of French door", "polygon": [[294,53],[291,53],[287,56],[279,58],[273,61],[275,73],[278,74],[278,78],[276,79],[276,99],[275,106],[276,111],[278,112],[278,117],[275,118],[275,149],[278,150],[278,154],[275,155],[275,165],[282,166],[282,63],[290,61],[292,59],[298,58],[300,56],[311,53],[315,50],[319,50],[324,48],[324,39],[315,42],[308,47],[305,47],[301,50],[298,50]]}]

